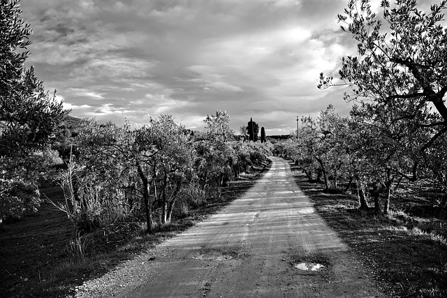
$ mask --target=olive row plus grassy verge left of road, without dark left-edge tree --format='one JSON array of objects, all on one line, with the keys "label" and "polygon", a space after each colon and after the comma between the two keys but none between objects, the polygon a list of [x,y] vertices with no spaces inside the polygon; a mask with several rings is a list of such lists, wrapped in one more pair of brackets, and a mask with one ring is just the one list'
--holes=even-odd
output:
[{"label": "olive row plus grassy verge left of road, without dark left-edge tree", "polygon": [[64,121],[66,137],[48,144],[57,159],[32,181],[38,212],[3,215],[2,293],[67,295],[242,195],[270,162],[272,144],[235,136],[229,120],[218,110],[203,131],[170,115],[139,129]]}]

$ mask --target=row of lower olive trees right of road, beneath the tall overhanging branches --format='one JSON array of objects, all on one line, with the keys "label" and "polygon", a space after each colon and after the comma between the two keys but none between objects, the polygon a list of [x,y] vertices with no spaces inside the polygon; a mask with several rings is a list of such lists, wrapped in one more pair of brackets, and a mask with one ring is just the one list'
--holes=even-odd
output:
[{"label": "row of lower olive trees right of road, beneath the tall overhanging branches", "polygon": [[423,150],[432,137],[423,128],[373,121],[364,112],[354,107],[350,117],[341,117],[329,105],[316,119],[302,117],[300,138],[275,144],[275,151],[293,158],[327,190],[339,190],[340,181],[345,191],[355,185],[361,209],[371,199],[376,211],[388,213],[402,179],[430,181],[447,195],[446,135]]}]

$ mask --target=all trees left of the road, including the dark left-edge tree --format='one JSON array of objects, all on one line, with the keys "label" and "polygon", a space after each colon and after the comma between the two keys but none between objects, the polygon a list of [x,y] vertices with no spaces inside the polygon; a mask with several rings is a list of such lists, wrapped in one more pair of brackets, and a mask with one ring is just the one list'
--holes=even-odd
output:
[{"label": "all trees left of the road, including the dark left-edge tree", "polygon": [[19,1],[0,1],[0,8],[0,223],[36,211],[39,180],[61,163],[59,154],[70,156],[69,142],[72,154],[61,174],[66,202],[57,206],[82,230],[140,216],[141,209],[152,230],[154,208],[169,222],[177,198],[206,198],[267,161],[268,147],[235,140],[223,111],[205,119],[203,132],[162,115],[138,130],[85,119],[71,133],[69,111],[33,68],[24,68],[31,28]]}]

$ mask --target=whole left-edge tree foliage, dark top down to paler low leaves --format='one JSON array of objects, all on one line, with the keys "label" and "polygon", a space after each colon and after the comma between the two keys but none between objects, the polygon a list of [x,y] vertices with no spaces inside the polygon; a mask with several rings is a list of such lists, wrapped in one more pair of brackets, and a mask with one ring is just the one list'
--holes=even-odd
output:
[{"label": "whole left-edge tree foliage, dark top down to paler low leaves", "polygon": [[18,1],[0,1],[0,220],[38,207],[38,156],[68,114],[45,91],[34,68],[24,68],[31,28],[21,14]]}]

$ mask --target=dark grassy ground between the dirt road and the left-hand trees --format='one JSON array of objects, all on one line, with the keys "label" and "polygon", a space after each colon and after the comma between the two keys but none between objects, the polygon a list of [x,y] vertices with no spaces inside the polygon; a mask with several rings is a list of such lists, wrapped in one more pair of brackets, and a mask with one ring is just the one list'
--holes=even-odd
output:
[{"label": "dark grassy ground between the dirt road and the left-hand trees", "polygon": [[[158,225],[152,234],[146,234],[145,223],[140,222],[117,223],[82,236],[73,234],[68,218],[45,202],[33,216],[0,230],[0,293],[2,297],[66,297],[84,281],[102,276],[240,198],[265,170],[258,168],[250,176],[232,181],[217,198],[172,223]],[[52,200],[63,198],[57,187],[41,191]]]}]

